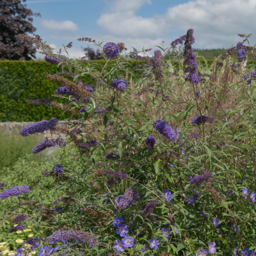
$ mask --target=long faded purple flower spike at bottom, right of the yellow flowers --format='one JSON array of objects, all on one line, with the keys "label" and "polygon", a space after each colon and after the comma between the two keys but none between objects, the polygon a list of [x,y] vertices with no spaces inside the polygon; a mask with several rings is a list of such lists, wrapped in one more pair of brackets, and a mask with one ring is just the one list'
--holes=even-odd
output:
[{"label": "long faded purple flower spike at bottom, right of the yellow flowers", "polygon": [[90,248],[94,248],[98,244],[95,234],[73,229],[56,232],[49,236],[47,240],[49,240],[49,244],[53,244],[57,242],[67,243],[68,239],[76,243],[88,243]]}]

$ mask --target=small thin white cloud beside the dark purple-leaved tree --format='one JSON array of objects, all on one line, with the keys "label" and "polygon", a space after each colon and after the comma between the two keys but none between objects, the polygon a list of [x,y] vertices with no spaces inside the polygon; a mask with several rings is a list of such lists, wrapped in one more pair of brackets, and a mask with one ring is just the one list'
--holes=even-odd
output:
[{"label": "small thin white cloud beside the dark purple-leaved tree", "polygon": [[76,23],[71,20],[55,21],[55,20],[41,20],[40,23],[44,29],[52,29],[58,31],[77,31],[79,28]]}]

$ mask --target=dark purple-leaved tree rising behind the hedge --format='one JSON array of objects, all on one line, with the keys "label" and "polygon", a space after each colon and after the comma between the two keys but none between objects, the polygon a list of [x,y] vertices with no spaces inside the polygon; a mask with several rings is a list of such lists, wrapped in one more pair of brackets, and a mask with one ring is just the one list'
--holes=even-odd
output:
[{"label": "dark purple-leaved tree rising behind the hedge", "polygon": [[40,13],[33,14],[20,0],[0,1],[0,60],[32,60],[29,54],[36,58],[36,48],[32,44],[15,38],[18,34],[26,35],[26,32],[36,30],[31,24],[31,15],[41,17]]}]

